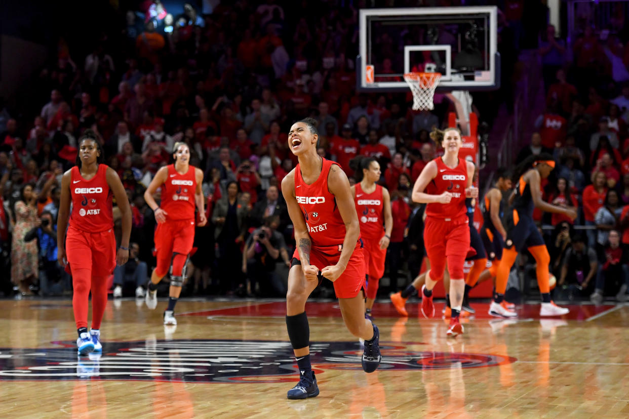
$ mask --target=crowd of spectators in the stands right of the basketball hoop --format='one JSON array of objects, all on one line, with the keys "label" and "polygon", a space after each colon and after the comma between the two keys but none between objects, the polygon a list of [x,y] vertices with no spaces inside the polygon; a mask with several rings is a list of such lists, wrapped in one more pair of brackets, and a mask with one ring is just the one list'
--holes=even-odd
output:
[{"label": "crowd of spectators in the stands right of the basketball hoop", "polygon": [[[574,220],[543,214],[551,270],[570,297],[627,299],[629,284],[629,37],[584,25],[572,45],[548,25],[540,39],[546,109],[516,158],[552,153],[557,168],[543,198],[576,209]],[[582,228],[584,227],[584,228]]]}]

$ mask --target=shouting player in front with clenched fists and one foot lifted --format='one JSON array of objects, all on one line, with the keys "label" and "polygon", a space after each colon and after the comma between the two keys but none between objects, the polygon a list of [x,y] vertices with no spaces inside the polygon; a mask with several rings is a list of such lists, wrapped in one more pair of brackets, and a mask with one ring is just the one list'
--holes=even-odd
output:
[{"label": "shouting player in front with clenched fists and one foot lifted", "polygon": [[318,139],[315,119],[292,124],[288,146],[299,163],[282,180],[297,242],[286,293],[286,329],[300,373],[299,383],[287,393],[291,400],[319,395],[306,300],[323,278],[334,283],[347,329],[364,339],[363,371],[376,371],[381,361],[378,328],[365,318],[365,259],[350,183],[337,163],[317,154]]}]

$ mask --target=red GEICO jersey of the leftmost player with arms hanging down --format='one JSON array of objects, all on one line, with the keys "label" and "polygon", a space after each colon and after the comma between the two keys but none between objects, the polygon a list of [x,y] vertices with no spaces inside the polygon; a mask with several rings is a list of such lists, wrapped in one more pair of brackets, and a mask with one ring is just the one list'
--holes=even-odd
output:
[{"label": "red GEICO jersey of the leftmost player with arms hanging down", "polygon": [[96,175],[90,180],[85,180],[81,176],[79,166],[74,166],[70,170],[70,196],[72,197],[70,227],[97,233],[107,231],[114,226],[113,193],[107,183],[107,169],[107,165],[99,164]]}]

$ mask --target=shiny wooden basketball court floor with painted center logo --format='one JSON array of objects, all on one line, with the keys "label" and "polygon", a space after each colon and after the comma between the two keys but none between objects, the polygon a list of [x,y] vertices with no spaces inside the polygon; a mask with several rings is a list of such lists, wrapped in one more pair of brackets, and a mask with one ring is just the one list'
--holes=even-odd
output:
[{"label": "shiny wooden basketball court floor with painted center logo", "polygon": [[[308,303],[320,396],[290,401],[296,364],[284,302],[182,300],[176,330],[164,302],[109,301],[102,356],[77,357],[69,300],[5,300],[0,415],[11,417],[629,417],[629,307],[574,305],[540,320],[494,320],[487,304],[445,337],[443,319],[376,303],[383,363],[362,349],[335,302]],[[437,303],[440,313],[443,304]]]}]

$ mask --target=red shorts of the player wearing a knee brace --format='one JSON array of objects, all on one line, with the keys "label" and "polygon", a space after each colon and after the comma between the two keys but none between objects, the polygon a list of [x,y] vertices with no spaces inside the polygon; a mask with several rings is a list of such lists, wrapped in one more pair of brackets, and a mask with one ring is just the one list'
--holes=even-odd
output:
[{"label": "red shorts of the player wearing a knee brace", "polygon": [[194,219],[160,222],[155,228],[155,258],[157,275],[168,273],[173,253],[186,256],[194,244]]}]

